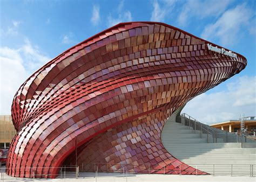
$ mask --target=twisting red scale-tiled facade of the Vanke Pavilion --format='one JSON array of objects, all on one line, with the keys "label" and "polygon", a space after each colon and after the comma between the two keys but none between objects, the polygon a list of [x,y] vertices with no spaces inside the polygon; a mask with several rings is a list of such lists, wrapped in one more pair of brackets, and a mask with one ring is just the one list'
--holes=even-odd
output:
[{"label": "twisting red scale-tiled facade of the Vanke Pavilion", "polygon": [[[24,167],[62,165],[72,158],[75,137],[79,162],[139,161],[175,169],[181,162],[159,138],[166,118],[246,66],[241,55],[235,59],[208,51],[207,43],[170,25],[134,22],[113,26],[60,54],[15,95],[11,110],[18,133],[10,146],[8,174],[31,177]],[[110,152],[99,156],[104,151]],[[138,166],[138,172],[144,168]],[[188,166],[182,170],[187,173]]]}]

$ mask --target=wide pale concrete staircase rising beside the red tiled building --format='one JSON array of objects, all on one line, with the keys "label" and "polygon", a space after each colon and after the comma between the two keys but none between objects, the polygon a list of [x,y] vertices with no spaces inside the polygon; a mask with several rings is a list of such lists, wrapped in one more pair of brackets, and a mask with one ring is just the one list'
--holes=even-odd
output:
[{"label": "wide pale concrete staircase rising beside the red tiled building", "polygon": [[[176,113],[177,114],[177,113]],[[207,127],[210,127],[207,125]],[[241,148],[237,136],[217,138],[173,121],[165,123],[161,141],[167,151],[182,162],[214,175],[250,176],[251,165],[256,175],[256,143],[248,141]],[[233,142],[233,143],[232,143]]]}]

